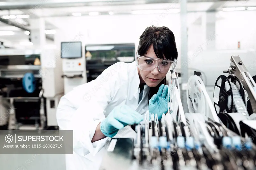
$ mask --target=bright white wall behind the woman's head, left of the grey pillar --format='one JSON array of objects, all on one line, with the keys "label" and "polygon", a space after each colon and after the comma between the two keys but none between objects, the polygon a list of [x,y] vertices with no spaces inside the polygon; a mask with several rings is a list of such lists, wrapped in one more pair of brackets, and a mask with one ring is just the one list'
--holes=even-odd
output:
[{"label": "bright white wall behind the woman's head, left of the grey pillar", "polygon": [[83,44],[135,43],[136,48],[146,27],[166,26],[174,33],[180,54],[179,14],[55,17],[47,20],[62,29],[62,41],[71,41],[83,32],[85,35],[79,40]]}]

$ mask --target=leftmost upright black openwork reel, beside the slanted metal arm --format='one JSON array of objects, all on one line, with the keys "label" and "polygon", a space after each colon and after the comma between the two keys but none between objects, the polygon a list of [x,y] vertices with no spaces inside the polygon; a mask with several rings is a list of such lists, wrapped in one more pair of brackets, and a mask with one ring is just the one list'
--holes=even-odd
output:
[{"label": "leftmost upright black openwork reel, beside the slanted metal arm", "polygon": [[[219,86],[218,80],[221,79],[221,86]],[[229,84],[229,90],[226,91],[225,89],[225,82],[228,82]],[[216,82],[215,82],[215,86],[218,87],[220,89],[220,93],[219,93],[219,101],[218,103],[214,102],[214,108],[217,114],[222,113],[222,112],[226,112],[227,113],[232,113],[232,109],[233,109],[233,93],[232,93],[232,88],[231,88],[231,84],[228,80],[228,78],[224,75],[220,75]],[[214,88],[214,94],[215,94],[215,88]],[[228,96],[231,96],[231,107],[230,109],[228,108]],[[216,109],[216,105],[219,106],[220,110],[219,112],[217,112]]]}]

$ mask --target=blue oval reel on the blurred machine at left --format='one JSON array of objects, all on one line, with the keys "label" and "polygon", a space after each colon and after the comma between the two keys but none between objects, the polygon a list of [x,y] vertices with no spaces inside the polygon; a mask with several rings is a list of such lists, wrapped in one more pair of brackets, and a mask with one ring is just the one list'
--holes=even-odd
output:
[{"label": "blue oval reel on the blurred machine at left", "polygon": [[27,72],[22,79],[23,89],[28,93],[33,93],[36,90],[36,80],[33,73]]}]

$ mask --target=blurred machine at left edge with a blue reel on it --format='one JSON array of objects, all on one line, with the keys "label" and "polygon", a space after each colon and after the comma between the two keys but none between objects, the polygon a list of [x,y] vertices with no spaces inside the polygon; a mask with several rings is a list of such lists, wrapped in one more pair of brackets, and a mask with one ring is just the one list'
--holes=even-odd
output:
[{"label": "blurred machine at left edge with a blue reel on it", "polygon": [[0,126],[9,130],[57,128],[63,95],[61,62],[54,49],[0,52]]}]

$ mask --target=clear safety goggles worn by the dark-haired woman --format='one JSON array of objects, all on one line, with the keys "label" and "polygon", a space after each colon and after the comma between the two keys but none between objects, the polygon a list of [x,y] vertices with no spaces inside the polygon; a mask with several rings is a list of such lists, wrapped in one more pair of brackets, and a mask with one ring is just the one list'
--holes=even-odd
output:
[{"label": "clear safety goggles worn by the dark-haired woman", "polygon": [[138,68],[144,71],[152,71],[155,67],[157,67],[159,72],[167,73],[169,70],[175,69],[177,60],[145,57],[136,53],[136,64]]}]

